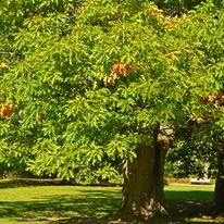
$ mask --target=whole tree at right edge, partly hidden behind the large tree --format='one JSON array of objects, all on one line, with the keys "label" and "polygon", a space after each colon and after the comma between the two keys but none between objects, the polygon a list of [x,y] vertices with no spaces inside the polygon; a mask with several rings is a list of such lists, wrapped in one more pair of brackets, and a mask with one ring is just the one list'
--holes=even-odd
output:
[{"label": "whole tree at right edge, partly hidden behind the large tree", "polygon": [[[188,116],[189,122],[187,126],[177,126],[177,139],[181,137],[183,140],[178,141],[177,148],[182,149],[178,151],[178,154],[184,162],[181,169],[186,171],[187,167],[188,174],[195,173],[198,176],[202,176],[204,174],[202,169],[204,162],[211,163],[210,170],[217,170],[217,174],[215,175],[216,184],[214,194],[214,209],[220,213],[223,212],[224,208],[224,185],[222,178],[224,82],[221,69],[222,66],[220,66],[223,63],[223,32],[217,27],[223,25],[223,10],[222,2],[217,1],[216,3],[216,7],[220,8],[221,11],[219,13],[217,11],[213,11],[215,18],[213,20],[213,28],[209,30],[209,37],[202,33],[203,37],[200,38],[200,40],[203,40],[201,49],[206,52],[206,61],[209,70],[211,70],[211,73],[214,75],[215,86],[213,91],[208,92],[204,96],[200,105],[192,107],[190,116]],[[200,10],[199,8],[197,9]],[[200,169],[197,169],[197,161],[203,161]],[[210,175],[212,174],[210,173]]]}]

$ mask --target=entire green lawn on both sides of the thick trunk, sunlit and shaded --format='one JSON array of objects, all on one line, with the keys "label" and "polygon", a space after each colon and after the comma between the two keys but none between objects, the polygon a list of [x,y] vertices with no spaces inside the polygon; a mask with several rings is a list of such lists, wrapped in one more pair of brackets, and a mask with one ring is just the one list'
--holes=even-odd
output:
[{"label": "entire green lawn on both sides of the thick trunk, sunlit and shaded", "polygon": [[[121,203],[119,187],[34,186],[0,183],[0,224],[109,223]],[[213,187],[167,186],[170,219],[159,223],[224,223],[208,211]]]}]

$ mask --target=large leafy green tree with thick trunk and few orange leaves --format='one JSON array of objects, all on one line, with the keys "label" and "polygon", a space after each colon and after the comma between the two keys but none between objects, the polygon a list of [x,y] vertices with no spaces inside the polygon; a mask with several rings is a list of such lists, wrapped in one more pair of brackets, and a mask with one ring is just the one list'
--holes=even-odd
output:
[{"label": "large leafy green tree with thick trunk and few orange leaves", "polygon": [[121,216],[163,213],[171,128],[206,113],[201,99],[221,89],[211,48],[223,41],[220,9],[171,18],[144,0],[16,3],[1,9],[18,55],[1,73],[1,154],[66,178],[120,158]]}]

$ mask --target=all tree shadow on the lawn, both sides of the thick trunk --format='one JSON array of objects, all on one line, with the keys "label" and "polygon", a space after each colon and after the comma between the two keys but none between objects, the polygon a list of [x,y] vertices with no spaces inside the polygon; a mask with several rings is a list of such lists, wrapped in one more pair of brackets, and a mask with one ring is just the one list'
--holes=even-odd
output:
[{"label": "all tree shadow on the lawn, both sides of the thick trunk", "polygon": [[[74,188],[75,189],[75,188]],[[32,190],[32,189],[30,189]],[[110,213],[115,212],[121,203],[117,189],[89,188],[75,189],[77,195],[52,195],[34,197],[30,201],[0,202],[0,221],[7,219],[17,222],[52,223],[52,224],[107,224]],[[53,192],[52,192],[53,194]],[[170,216],[155,220],[154,224],[210,223],[215,222],[211,213],[211,191],[169,191],[166,192]],[[197,200],[199,196],[199,199]],[[113,216],[112,216],[113,217]],[[212,220],[213,219],[213,220]],[[111,222],[122,223],[122,222]],[[125,222],[123,222],[125,223]]]}]

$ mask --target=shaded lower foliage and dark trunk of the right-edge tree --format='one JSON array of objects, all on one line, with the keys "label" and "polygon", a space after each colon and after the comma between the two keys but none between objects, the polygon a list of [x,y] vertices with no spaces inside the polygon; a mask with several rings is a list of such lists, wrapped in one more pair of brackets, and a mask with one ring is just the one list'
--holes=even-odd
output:
[{"label": "shaded lower foliage and dark trunk of the right-edge tree", "polygon": [[[223,94],[203,99],[209,109],[203,116],[178,127],[176,148],[169,152],[169,160],[181,160],[177,176],[196,175],[216,178],[214,210],[223,212]],[[183,135],[184,133],[184,135]],[[207,166],[207,167],[206,167]],[[208,167],[209,166],[209,167]],[[207,171],[208,170],[208,171]],[[207,176],[208,178],[208,176]]]}]

